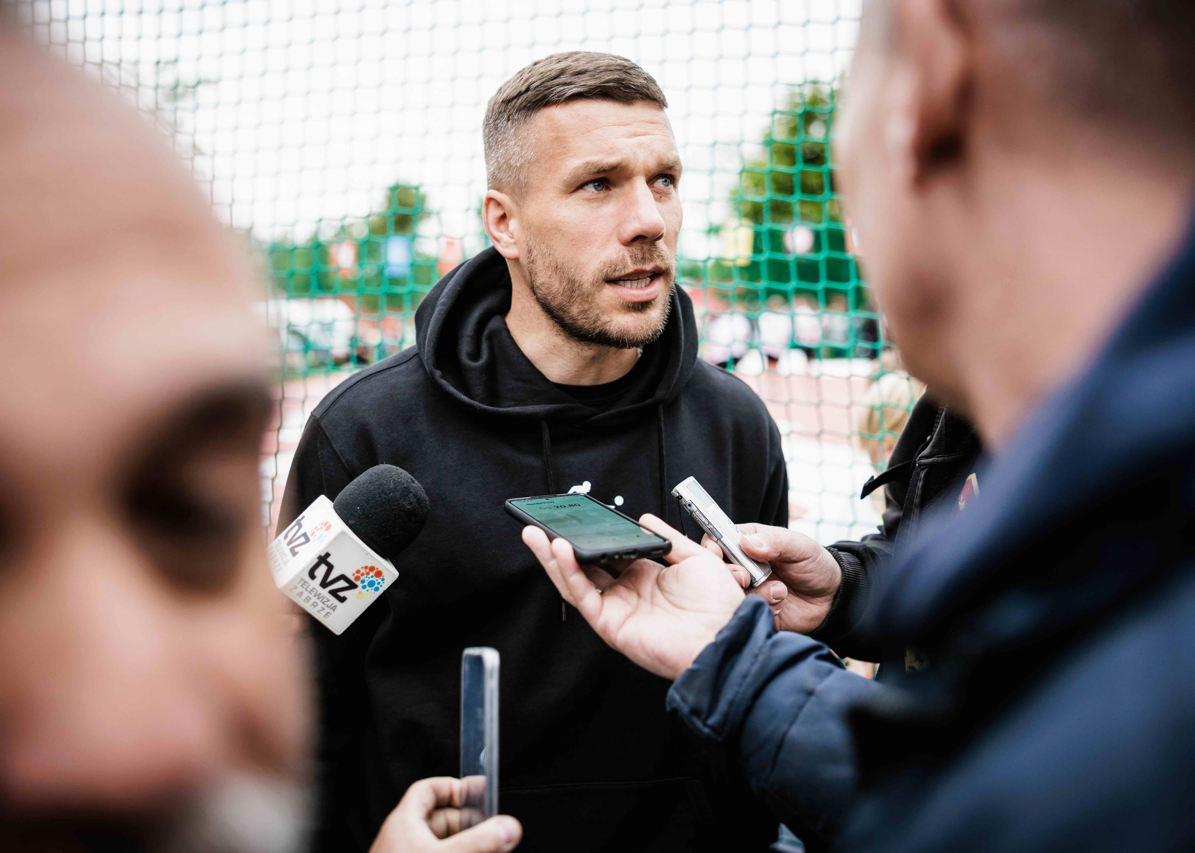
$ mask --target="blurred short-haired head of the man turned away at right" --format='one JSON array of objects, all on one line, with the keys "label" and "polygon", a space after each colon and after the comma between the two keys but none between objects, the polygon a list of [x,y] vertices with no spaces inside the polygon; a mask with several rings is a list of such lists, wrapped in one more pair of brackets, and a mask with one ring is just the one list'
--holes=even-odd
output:
[{"label": "blurred short-haired head of the man turned away at right", "polygon": [[1190,0],[869,0],[835,155],[908,369],[993,446],[1177,246]]}]

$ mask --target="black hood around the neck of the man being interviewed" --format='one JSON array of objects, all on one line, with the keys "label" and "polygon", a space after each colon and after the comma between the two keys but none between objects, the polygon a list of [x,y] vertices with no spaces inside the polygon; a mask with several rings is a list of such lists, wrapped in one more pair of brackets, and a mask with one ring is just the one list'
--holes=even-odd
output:
[{"label": "black hood around the neck of the man being interviewed", "polygon": [[528,361],[507,329],[510,274],[492,246],[431,288],[415,313],[416,342],[428,375],[465,406],[486,415],[609,424],[643,417],[675,399],[697,366],[693,303],[673,288],[660,339],[643,348],[637,378],[602,410],[578,403]]}]

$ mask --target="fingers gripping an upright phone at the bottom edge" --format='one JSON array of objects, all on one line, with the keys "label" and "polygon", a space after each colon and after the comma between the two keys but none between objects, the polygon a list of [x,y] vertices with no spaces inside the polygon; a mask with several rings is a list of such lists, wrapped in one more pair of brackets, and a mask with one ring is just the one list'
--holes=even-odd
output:
[{"label": "fingers gripping an upright phone at the bottom edge", "polygon": [[415,783],[381,824],[369,853],[507,853],[519,846],[522,827],[508,815],[461,830],[464,796],[460,779]]}]

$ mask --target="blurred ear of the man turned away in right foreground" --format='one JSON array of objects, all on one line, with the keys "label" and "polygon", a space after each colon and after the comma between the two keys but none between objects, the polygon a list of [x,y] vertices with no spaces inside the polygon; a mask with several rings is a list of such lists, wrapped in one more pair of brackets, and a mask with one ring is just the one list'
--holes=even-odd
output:
[{"label": "blurred ear of the man turned away in right foreground", "polygon": [[967,151],[975,39],[957,0],[896,0],[893,6],[909,90],[903,127],[890,129],[890,136],[908,146],[911,177],[920,186]]}]

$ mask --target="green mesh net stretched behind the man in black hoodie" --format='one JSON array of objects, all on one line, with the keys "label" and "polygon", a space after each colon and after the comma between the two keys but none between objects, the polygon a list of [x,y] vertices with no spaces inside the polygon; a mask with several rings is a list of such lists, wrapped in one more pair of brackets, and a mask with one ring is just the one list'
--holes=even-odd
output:
[{"label": "green mesh net stretched behind the man in black hoodie", "polygon": [[701,357],[779,424],[792,526],[823,542],[875,529],[859,486],[919,389],[883,339],[835,188],[859,0],[12,5],[172,137],[259,262],[278,354],[265,523],[307,415],[412,345],[424,294],[485,247],[490,94],[534,59],[587,49],[636,60],[669,98]]}]

